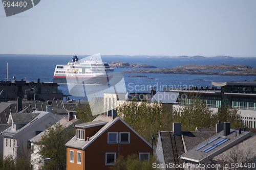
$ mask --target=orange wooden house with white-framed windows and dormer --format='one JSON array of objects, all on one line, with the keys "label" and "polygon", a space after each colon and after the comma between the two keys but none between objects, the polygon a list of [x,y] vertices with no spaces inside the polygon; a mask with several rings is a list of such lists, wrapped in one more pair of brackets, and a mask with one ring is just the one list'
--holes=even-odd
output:
[{"label": "orange wooden house with white-framed windows and dormer", "polygon": [[67,170],[109,169],[120,155],[150,159],[152,145],[116,116],[116,110],[108,115],[75,125],[76,136],[66,143]]}]

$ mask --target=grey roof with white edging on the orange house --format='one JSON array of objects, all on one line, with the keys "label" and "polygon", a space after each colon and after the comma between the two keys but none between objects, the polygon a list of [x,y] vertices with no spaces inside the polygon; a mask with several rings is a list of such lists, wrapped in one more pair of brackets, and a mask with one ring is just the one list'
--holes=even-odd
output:
[{"label": "grey roof with white edging on the orange house", "polygon": [[[93,136],[91,136],[89,138],[89,141],[86,140],[76,140],[76,136],[74,136],[70,141],[68,141],[65,145],[66,147],[71,147],[71,148],[77,148],[77,149],[81,149],[84,150],[86,149],[93,141],[95,141],[102,133],[104,133],[106,130],[108,130],[112,125],[114,125],[118,120],[120,120],[123,124],[125,124],[128,128],[131,129],[131,131],[133,131],[136,135],[138,135],[145,143],[147,143],[148,145],[150,145],[150,147],[152,147],[152,145],[150,143],[148,143],[142,136],[140,136],[132,127],[130,127],[128,124],[126,124],[124,122],[123,119],[121,119],[119,116],[115,117],[114,119],[112,119],[111,116],[106,116],[106,115],[98,115],[92,122],[97,122],[99,123],[99,121],[102,122],[106,122],[106,124],[98,131],[96,132]],[[80,124],[77,125],[76,127],[80,126],[84,124]]]}]

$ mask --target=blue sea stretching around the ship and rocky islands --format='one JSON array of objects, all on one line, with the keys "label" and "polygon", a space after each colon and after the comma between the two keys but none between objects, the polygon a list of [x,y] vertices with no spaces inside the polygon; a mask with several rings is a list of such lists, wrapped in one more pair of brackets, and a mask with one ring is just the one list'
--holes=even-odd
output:
[{"label": "blue sea stretching around the ship and rocky islands", "polygon": [[[84,58],[87,56],[78,56]],[[0,55],[0,80],[6,81],[7,63],[8,80],[34,81],[40,79],[41,82],[53,82],[53,74],[56,64],[67,64],[71,61],[71,55]],[[242,64],[256,67],[256,58],[164,58],[146,56],[101,56],[103,62],[123,61],[137,64],[154,65],[161,67],[175,67],[186,64]],[[155,86],[157,90],[165,87],[192,87],[208,86],[216,81],[244,81],[256,80],[256,76],[217,76],[217,75],[171,75],[171,74],[124,74],[122,71],[139,68],[115,68],[124,77],[127,92],[148,92],[150,86]],[[145,69],[145,68],[141,68]],[[146,76],[146,77],[129,77]],[[63,94],[70,94],[67,85],[60,84],[58,89]],[[80,96],[70,96],[71,99],[84,100]],[[65,99],[63,99],[65,100]]]}]

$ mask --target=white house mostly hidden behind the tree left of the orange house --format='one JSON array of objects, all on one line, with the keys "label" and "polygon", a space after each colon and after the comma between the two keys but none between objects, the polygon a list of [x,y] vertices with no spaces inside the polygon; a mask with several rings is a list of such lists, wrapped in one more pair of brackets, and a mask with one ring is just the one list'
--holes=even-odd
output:
[{"label": "white house mostly hidden behind the tree left of the orange house", "polygon": [[[71,114],[68,117],[61,118],[57,124],[61,125],[64,128],[70,128],[73,127],[75,124],[82,123],[81,120],[76,119],[75,115]],[[54,126],[54,125],[53,125]],[[33,169],[37,170],[40,167],[44,165],[44,160],[41,158],[39,151],[40,147],[38,145],[38,142],[41,140],[42,136],[47,134],[48,130],[39,133],[38,135],[32,137],[29,142],[30,144],[30,161],[33,165]]]}]

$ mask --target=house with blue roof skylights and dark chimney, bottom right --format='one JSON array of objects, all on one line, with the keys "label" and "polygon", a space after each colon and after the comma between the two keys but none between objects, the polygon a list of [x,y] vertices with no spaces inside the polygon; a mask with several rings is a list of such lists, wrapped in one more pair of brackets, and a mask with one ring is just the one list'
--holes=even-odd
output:
[{"label": "house with blue roof skylights and dark chimney, bottom right", "polygon": [[[246,142],[246,140],[253,145],[253,140],[249,140],[254,136],[252,132],[242,131],[241,128],[239,130],[230,129],[230,123],[228,122],[224,122],[222,125],[223,130],[221,132],[197,144],[181,155],[180,158],[187,165],[185,169],[197,169],[199,166],[212,167],[212,165],[218,165],[215,160],[220,159],[217,156],[225,154],[224,152],[226,150],[233,148],[241,142]],[[250,159],[253,159],[253,156]]]}]

